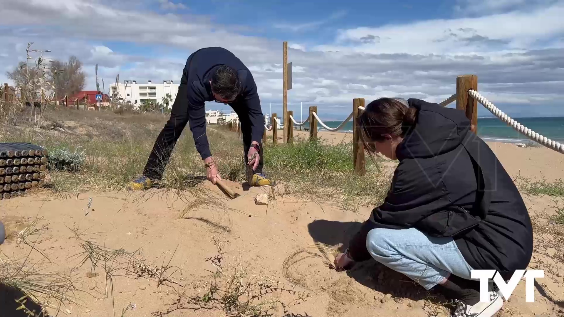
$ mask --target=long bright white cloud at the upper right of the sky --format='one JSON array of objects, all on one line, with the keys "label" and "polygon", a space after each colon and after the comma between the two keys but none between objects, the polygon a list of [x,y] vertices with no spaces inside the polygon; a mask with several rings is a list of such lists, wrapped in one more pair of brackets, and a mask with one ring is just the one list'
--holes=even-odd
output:
[{"label": "long bright white cloud at the upper right of the sky", "polygon": [[[564,34],[564,3],[530,12],[341,30],[323,51],[471,55],[526,51]],[[542,23],[539,23],[542,21]]]}]

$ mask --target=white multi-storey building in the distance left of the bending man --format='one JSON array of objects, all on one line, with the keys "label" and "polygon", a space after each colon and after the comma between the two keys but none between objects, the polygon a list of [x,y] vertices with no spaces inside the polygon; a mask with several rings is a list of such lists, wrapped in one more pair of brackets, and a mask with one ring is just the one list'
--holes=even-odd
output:
[{"label": "white multi-storey building in the distance left of the bending man", "polygon": [[174,99],[178,94],[178,84],[171,80],[162,81],[162,83],[137,83],[134,80],[125,80],[124,83],[113,83],[110,86],[110,97],[115,101],[131,102],[131,104],[139,107],[145,100],[154,103],[163,103],[162,98],[170,95],[169,107],[172,107]]}]

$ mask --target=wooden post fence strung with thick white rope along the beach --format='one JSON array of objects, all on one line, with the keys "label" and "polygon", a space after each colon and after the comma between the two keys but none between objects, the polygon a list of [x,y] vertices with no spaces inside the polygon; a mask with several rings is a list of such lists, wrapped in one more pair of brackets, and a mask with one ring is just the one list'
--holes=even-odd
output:
[{"label": "wooden post fence strung with thick white rope along the beach", "polygon": [[[464,111],[466,117],[470,120],[471,130],[473,133],[477,133],[478,129],[478,105],[480,103],[483,105],[488,111],[490,111],[494,116],[499,118],[499,120],[505,122],[505,124],[512,127],[515,131],[518,131],[522,135],[525,135],[527,138],[533,140],[536,143],[541,144],[549,149],[557,151],[559,153],[564,154],[564,143],[559,143],[554,140],[551,140],[547,137],[544,137],[541,134],[536,133],[535,131],[529,129],[528,127],[520,124],[513,118],[506,115],[502,112],[499,108],[497,108],[493,103],[487,100],[484,96],[478,93],[478,77],[475,75],[461,75],[456,78],[456,93],[452,94],[447,99],[444,99],[442,102],[438,103],[442,107],[446,107],[447,105],[456,101],[456,109],[460,111]],[[341,122],[341,124],[337,127],[329,127],[327,126],[318,116],[317,107],[311,106],[310,107],[310,116],[303,122],[297,122],[294,120],[292,116],[292,111],[288,111],[288,117],[290,118],[293,125],[303,126],[306,122],[310,122],[310,139],[317,138],[317,130],[318,130],[318,122],[319,125],[323,126],[328,131],[338,131],[343,128],[351,119],[353,121],[352,124],[352,146],[353,146],[353,162],[354,162],[354,171],[356,174],[363,174],[364,169],[364,148],[362,146],[362,142],[360,142],[360,134],[358,131],[358,118],[365,110],[364,108],[364,98],[355,98],[352,101],[352,112],[350,115],[345,119],[345,121]],[[265,120],[266,122],[266,120]],[[272,114],[272,124],[267,126],[265,124],[265,134],[263,135],[263,142],[267,140],[267,131],[272,131],[272,142],[277,144],[277,131],[279,129],[283,129],[284,125],[281,124],[280,120],[277,118],[276,113]],[[286,122],[284,122],[286,123]],[[236,131],[240,134],[240,122],[237,120],[235,122],[228,122],[229,129],[231,131]],[[284,140],[284,143],[292,143],[293,142],[293,129],[288,129],[290,131],[288,133],[288,137]]]}]

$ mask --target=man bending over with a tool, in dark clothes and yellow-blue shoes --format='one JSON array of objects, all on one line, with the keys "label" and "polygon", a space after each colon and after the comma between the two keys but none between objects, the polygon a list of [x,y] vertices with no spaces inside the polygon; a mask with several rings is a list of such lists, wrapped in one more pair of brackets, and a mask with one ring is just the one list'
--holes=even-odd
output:
[{"label": "man bending over with a tool, in dark clothes and yellow-blue shoes", "polygon": [[271,185],[271,180],[262,173],[261,140],[265,121],[253,75],[230,51],[222,47],[205,47],[188,57],[170,119],[157,137],[143,176],[131,182],[129,190],[144,190],[162,178],[174,145],[188,121],[208,179],[214,184],[221,179],[206,137],[204,102],[211,100],[229,104],[239,116],[245,163],[253,168],[249,184]]}]

